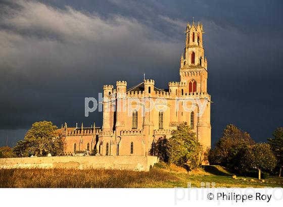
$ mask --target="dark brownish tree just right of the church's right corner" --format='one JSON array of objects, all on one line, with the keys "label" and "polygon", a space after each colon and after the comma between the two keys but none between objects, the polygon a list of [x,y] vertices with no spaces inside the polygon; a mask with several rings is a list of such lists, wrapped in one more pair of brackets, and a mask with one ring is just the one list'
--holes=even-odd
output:
[{"label": "dark brownish tree just right of the church's right corner", "polygon": [[[254,144],[254,140],[251,138],[250,134],[243,132],[241,129],[237,128],[235,125],[229,124],[223,130],[223,135],[216,143],[215,148],[210,150],[209,162],[211,164],[220,164],[227,166],[229,161],[231,161],[231,151],[235,147],[241,145],[245,147]],[[238,149],[241,149],[238,147]],[[237,154],[237,151],[232,153]]]}]

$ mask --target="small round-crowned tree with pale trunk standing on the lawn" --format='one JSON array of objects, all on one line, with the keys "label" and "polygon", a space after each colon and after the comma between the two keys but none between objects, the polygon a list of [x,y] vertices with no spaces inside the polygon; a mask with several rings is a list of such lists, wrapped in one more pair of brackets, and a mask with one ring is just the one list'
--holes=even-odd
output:
[{"label": "small round-crowned tree with pale trunk standing on the lawn", "polygon": [[276,158],[272,153],[271,147],[267,143],[257,143],[250,146],[242,159],[243,169],[257,169],[258,179],[262,170],[272,170],[276,165]]}]

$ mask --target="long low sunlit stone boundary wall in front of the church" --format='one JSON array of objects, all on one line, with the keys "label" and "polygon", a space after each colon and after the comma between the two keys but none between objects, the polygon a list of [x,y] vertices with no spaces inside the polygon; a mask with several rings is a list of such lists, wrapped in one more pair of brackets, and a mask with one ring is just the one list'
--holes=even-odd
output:
[{"label": "long low sunlit stone boundary wall in front of the church", "polygon": [[14,168],[65,168],[65,169],[115,169],[149,171],[158,162],[154,156],[89,156],[89,157],[36,157],[2,158],[0,169]]}]

